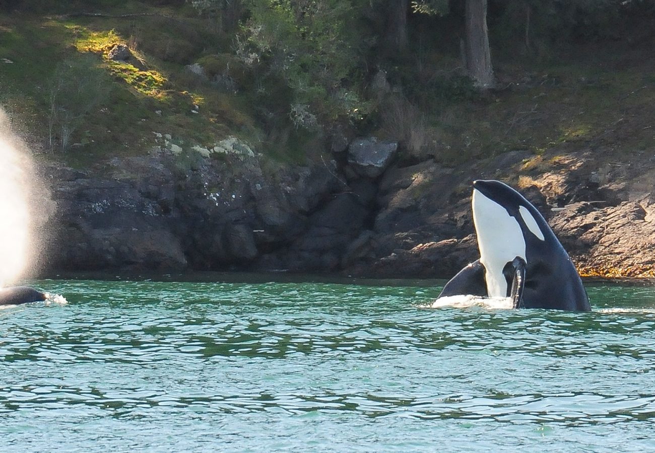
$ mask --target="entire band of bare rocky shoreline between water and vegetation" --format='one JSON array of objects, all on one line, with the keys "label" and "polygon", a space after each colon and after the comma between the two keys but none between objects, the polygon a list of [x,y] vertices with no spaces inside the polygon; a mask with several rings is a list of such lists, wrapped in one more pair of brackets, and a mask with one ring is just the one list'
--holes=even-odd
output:
[{"label": "entire band of bare rocky shoreline between water and vegetation", "polygon": [[[445,167],[398,143],[332,139],[305,165],[234,140],[101,171],[41,167],[56,203],[44,271],[244,270],[449,278],[477,258],[474,179],[517,187],[584,276],[653,277],[655,161],[567,149],[514,151]],[[246,151],[244,151],[246,150]]]}]

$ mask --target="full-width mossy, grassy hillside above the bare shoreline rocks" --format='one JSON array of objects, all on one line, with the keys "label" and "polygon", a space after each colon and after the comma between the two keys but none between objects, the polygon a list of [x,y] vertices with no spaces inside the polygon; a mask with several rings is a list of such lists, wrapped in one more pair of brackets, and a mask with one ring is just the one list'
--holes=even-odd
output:
[{"label": "full-width mossy, grassy hillside above the bare shoreline rocks", "polygon": [[[447,52],[421,47],[380,62],[352,88],[367,97],[361,118],[335,117],[316,130],[303,120],[318,107],[291,103],[296,88],[270,75],[274,62],[238,55],[238,29],[219,31],[177,3],[105,2],[94,16],[79,2],[58,14],[0,13],[0,103],[52,158],[88,168],[147,153],[153,133],[187,148],[237,136],[294,162],[315,157],[335,134],[399,140],[404,158],[445,164],[515,150],[538,155],[602,134],[626,120],[622,109],[648,109],[653,97],[648,42],[588,43],[548,59],[499,52],[498,89],[484,95]],[[109,59],[116,45],[131,56]],[[622,137],[622,148],[645,147],[642,135]]]}]

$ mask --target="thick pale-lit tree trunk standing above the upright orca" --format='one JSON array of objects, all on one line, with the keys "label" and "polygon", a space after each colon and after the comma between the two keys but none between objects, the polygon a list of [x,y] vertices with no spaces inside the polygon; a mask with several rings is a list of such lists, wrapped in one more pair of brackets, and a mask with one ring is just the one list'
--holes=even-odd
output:
[{"label": "thick pale-lit tree trunk standing above the upright orca", "polygon": [[466,0],[466,70],[479,88],[495,85],[487,33],[487,0]]}]

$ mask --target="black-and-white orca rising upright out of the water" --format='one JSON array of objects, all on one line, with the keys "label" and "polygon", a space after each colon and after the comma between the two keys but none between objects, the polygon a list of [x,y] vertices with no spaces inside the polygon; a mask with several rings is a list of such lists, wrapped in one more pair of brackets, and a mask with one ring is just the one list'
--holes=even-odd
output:
[{"label": "black-and-white orca rising upright out of the water", "polygon": [[511,297],[514,308],[591,310],[569,254],[519,192],[500,181],[475,181],[472,207],[480,259],[460,270],[439,297]]}]

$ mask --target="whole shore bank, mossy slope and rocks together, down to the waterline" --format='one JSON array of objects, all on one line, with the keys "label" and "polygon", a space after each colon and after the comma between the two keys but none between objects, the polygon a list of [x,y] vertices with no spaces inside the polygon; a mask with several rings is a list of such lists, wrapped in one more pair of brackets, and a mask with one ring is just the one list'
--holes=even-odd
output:
[{"label": "whole shore bank, mossy slope and rocks together, down to the waterline", "polygon": [[[650,41],[498,52],[487,92],[416,41],[299,103],[298,73],[189,3],[81,3],[0,13],[0,105],[58,206],[47,268],[447,277],[476,255],[483,177],[524,190],[586,274],[652,276]],[[354,154],[374,141],[397,151],[371,172]]]}]

